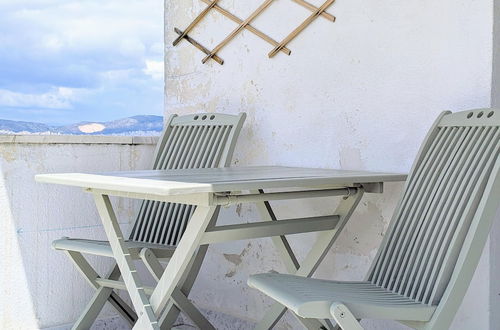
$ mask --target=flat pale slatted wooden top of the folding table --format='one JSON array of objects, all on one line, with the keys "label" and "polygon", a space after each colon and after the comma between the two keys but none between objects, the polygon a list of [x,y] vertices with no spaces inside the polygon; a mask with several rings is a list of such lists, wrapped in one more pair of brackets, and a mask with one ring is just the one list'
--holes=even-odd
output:
[{"label": "flat pale slatted wooden top of the folding table", "polygon": [[249,189],[328,188],[404,181],[405,174],[285,166],[39,174],[36,180],[108,191],[180,195]]}]

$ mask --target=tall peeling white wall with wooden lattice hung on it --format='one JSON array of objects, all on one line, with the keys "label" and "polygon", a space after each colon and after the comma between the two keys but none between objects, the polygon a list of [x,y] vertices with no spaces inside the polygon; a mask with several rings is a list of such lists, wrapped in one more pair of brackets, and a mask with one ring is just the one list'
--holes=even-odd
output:
[{"label": "tall peeling white wall with wooden lattice hung on it", "polygon": [[[321,1],[311,1],[321,4]],[[254,1],[221,0],[240,18]],[[165,1],[165,114],[247,112],[234,164],[279,164],[406,172],[437,114],[490,106],[493,1],[338,0],[336,23],[318,18],[278,54],[245,31],[220,51],[223,66],[176,35],[205,7],[201,1]],[[308,16],[289,0],[276,0],[252,23],[281,40]],[[212,11],[190,35],[214,47],[236,25]],[[401,185],[368,195],[317,276],[361,279],[376,253]],[[275,203],[276,204],[276,203]],[[277,204],[281,217],[326,214],[329,200]],[[251,207],[225,210],[222,222],[254,219]],[[314,234],[294,237],[303,256]],[[485,250],[453,329],[490,326],[489,250]],[[214,246],[193,289],[200,306],[250,322],[270,301],[246,287],[249,274],[283,271],[268,240]],[[222,315],[222,314],[221,314]],[[219,319],[222,329],[232,328]],[[395,323],[364,322],[368,329]],[[299,328],[287,316],[282,329]]]}]

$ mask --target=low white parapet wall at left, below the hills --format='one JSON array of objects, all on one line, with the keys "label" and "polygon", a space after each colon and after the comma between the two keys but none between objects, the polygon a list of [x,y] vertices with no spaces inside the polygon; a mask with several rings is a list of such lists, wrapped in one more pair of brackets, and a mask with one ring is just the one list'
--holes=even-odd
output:
[{"label": "low white parapet wall at left, below the hills", "polygon": [[[96,141],[93,138],[86,142]],[[0,142],[8,140],[0,138]],[[44,141],[37,137],[24,140],[36,143],[0,143],[1,329],[33,330],[72,323],[94,291],[64,253],[51,248],[51,242],[61,236],[105,238],[92,197],[76,188],[35,183],[34,175],[145,169],[150,166],[155,141],[143,138],[146,144],[127,145],[68,144],[77,141],[74,137],[57,144],[40,144]],[[137,204],[115,201],[126,228]],[[110,260],[90,260],[100,271],[108,271]],[[112,315],[114,311],[107,308],[100,317]],[[97,325],[105,328],[109,322]]]}]

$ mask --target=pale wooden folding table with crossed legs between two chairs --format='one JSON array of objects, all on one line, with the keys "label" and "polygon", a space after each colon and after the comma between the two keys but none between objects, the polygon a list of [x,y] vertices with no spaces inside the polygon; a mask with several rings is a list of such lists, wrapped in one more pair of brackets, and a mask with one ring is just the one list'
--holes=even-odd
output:
[{"label": "pale wooden folding table with crossed legs between two chairs", "polygon": [[[165,326],[164,318],[171,308],[168,303],[175,288],[189,272],[190,262],[200,246],[271,237],[287,271],[310,277],[337,239],[363,193],[381,193],[384,182],[405,179],[406,175],[395,173],[282,166],[36,176],[39,182],[81,187],[94,195],[123,284],[139,315],[134,329],[160,329]],[[109,196],[197,205],[155,288],[146,288],[141,283],[125,247],[125,238]],[[278,220],[269,204],[269,201],[275,200],[328,196],[343,196],[334,214],[328,216]],[[224,226],[217,226],[214,221],[210,221],[218,206],[235,203],[256,204],[262,221]],[[309,254],[299,264],[285,235],[315,231],[321,233]],[[282,305],[273,305],[258,328],[271,328],[285,311]],[[310,329],[332,326],[328,321],[300,321]]]}]

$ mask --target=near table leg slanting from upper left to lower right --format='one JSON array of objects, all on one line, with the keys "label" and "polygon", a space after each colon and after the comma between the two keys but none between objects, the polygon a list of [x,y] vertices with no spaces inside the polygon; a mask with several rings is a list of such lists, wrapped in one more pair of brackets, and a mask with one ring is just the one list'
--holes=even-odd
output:
[{"label": "near table leg slanting from upper left to lower right", "polygon": [[94,194],[94,200],[97,206],[104,231],[108,237],[123,281],[132,300],[135,310],[139,314],[139,319],[134,328],[159,330],[158,320],[153,312],[153,308],[140,284],[139,274],[135,268],[134,262],[128,249],[125,246],[123,233],[118,225],[113,206],[108,195]]}]

